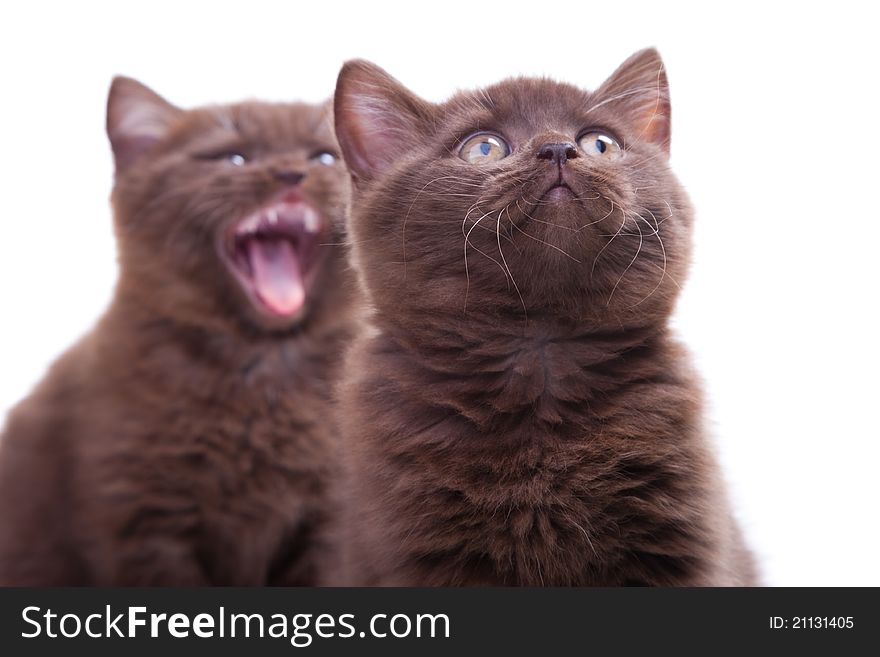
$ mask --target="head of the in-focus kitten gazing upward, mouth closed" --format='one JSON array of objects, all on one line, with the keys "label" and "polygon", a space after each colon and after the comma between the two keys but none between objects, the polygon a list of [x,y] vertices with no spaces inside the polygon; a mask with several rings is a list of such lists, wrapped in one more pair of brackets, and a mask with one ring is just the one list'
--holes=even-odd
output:
[{"label": "head of the in-focus kitten gazing upward, mouth closed", "polygon": [[487,313],[645,325],[671,312],[691,213],[669,169],[655,50],[596,91],[516,78],[418,98],[342,69],[336,132],[354,181],[354,261],[383,316]]}]

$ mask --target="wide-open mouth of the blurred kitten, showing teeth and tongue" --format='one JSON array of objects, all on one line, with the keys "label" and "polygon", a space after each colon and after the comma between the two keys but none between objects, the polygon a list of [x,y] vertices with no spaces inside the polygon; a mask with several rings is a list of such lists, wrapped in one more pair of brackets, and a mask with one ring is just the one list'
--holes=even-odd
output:
[{"label": "wide-open mouth of the blurred kitten, showing teeth and tongue", "polygon": [[289,195],[226,233],[224,260],[258,309],[288,319],[303,309],[322,223],[314,207]]}]

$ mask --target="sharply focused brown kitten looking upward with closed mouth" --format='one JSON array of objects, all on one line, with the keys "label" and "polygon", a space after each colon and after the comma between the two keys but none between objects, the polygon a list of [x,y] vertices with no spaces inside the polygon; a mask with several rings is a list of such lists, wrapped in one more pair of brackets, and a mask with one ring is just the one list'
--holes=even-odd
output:
[{"label": "sharply focused brown kitten looking upward with closed mouth", "polygon": [[589,93],[336,90],[373,304],[343,386],[350,576],[752,584],[669,316],[691,209],[654,50]]}]

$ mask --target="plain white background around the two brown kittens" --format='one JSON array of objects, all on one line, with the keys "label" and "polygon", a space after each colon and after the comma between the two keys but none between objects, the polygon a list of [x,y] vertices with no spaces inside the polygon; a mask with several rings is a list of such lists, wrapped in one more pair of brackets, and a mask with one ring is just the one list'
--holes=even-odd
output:
[{"label": "plain white background around the two brown kittens", "polygon": [[655,45],[698,212],[676,324],[766,582],[880,585],[880,50],[858,6],[5,2],[0,416],[110,299],[114,74],[183,106],[317,101],[363,57],[442,100],[520,73],[592,88]]}]

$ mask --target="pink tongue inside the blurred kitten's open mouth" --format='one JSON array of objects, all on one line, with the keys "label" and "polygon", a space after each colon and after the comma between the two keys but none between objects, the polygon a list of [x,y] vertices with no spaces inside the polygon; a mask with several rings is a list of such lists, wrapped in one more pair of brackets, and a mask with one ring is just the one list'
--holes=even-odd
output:
[{"label": "pink tongue inside the blurred kitten's open mouth", "polygon": [[305,301],[299,258],[285,239],[250,239],[248,257],[257,295],[272,312],[292,315]]}]

